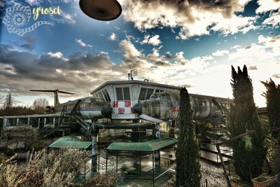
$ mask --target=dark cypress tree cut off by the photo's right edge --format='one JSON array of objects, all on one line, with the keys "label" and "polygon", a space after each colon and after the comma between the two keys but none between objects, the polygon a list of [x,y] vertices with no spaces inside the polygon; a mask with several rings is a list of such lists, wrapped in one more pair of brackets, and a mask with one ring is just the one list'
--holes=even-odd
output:
[{"label": "dark cypress tree cut off by the photo's right edge", "polygon": [[[274,81],[263,82],[267,91],[263,94],[267,99],[267,114],[269,118],[269,126],[271,130],[280,127],[280,85],[275,85]],[[275,139],[280,138],[279,131],[272,132]]]}]

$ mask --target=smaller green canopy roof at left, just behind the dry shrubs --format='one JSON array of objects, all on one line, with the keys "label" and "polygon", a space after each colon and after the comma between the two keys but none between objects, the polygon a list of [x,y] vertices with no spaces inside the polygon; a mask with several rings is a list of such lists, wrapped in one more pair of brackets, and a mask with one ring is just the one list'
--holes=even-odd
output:
[{"label": "smaller green canopy roof at left, just behind the dry shrubs", "polygon": [[80,141],[80,137],[67,136],[54,141],[48,148],[76,148],[86,149],[92,145],[91,141]]}]

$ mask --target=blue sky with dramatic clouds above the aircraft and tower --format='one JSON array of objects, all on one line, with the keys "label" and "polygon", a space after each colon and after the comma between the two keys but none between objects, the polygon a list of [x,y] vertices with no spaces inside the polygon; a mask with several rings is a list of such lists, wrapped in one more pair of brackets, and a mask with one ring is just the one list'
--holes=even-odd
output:
[{"label": "blue sky with dramatic clouds above the aircraft and tower", "polygon": [[[280,83],[279,0],[121,0],[112,21],[87,17],[78,0],[0,1],[0,99],[13,92],[20,105],[65,90],[60,102],[90,95],[105,81],[135,79],[186,86],[190,93],[232,98],[231,66],[248,67],[255,104],[265,106],[260,81]],[[4,24],[7,8],[31,8],[22,36]],[[57,8],[60,14],[33,9]],[[13,18],[13,14],[10,14]],[[27,15],[28,17],[28,15]],[[10,20],[13,22],[13,20]]]}]

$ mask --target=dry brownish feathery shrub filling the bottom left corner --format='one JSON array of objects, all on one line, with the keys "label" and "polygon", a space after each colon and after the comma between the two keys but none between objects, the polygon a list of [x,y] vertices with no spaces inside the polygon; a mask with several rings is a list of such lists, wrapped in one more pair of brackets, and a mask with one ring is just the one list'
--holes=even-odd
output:
[{"label": "dry brownish feathery shrub filling the bottom left corner", "polygon": [[[14,157],[13,157],[14,158]],[[59,155],[45,150],[30,155],[25,166],[10,158],[0,165],[0,186],[73,186],[73,179],[85,163],[85,151],[67,150]]]}]

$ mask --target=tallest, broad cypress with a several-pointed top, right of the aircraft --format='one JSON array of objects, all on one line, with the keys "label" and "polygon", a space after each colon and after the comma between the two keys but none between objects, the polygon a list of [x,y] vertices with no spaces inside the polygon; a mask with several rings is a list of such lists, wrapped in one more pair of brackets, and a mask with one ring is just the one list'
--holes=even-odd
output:
[{"label": "tallest, broad cypress with a several-pointed top, right of the aircraft", "polygon": [[234,104],[230,108],[230,137],[255,130],[239,141],[232,143],[235,172],[241,180],[251,182],[251,179],[262,173],[262,163],[265,159],[264,134],[253,101],[253,86],[248,76],[247,67],[238,71],[232,67],[232,92]]}]

